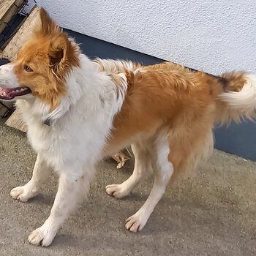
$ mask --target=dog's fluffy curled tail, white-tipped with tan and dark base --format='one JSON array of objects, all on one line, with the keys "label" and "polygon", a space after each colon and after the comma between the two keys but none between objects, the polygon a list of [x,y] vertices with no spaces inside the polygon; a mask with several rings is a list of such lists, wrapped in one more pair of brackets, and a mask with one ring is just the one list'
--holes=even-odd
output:
[{"label": "dog's fluffy curled tail, white-tipped with tan and dark base", "polygon": [[230,124],[230,121],[255,118],[256,75],[233,72],[225,73],[220,78],[223,91],[219,94],[217,121]]}]

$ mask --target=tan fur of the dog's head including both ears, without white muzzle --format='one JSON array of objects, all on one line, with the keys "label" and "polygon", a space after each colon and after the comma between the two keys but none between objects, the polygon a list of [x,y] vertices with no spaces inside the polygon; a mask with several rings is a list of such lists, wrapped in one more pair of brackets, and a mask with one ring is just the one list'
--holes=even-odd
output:
[{"label": "tan fur of the dog's head including both ears, without white muzzle", "polygon": [[[34,96],[54,110],[67,94],[67,74],[80,65],[79,50],[43,9],[40,18],[41,26],[14,61],[15,75],[21,86],[29,87]],[[25,66],[29,66],[32,72],[27,72]]]}]

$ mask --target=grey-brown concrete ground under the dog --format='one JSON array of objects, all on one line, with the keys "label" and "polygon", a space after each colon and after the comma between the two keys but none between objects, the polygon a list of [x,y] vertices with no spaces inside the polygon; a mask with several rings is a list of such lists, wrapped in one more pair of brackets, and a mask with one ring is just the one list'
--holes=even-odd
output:
[{"label": "grey-brown concrete ground under the dog", "polygon": [[89,200],[65,222],[48,248],[31,246],[29,233],[48,217],[56,176],[29,203],[10,190],[29,181],[35,154],[23,133],[0,124],[0,255],[256,255],[256,164],[214,151],[197,176],[168,188],[148,224],[129,233],[124,220],[143,204],[151,180],[116,200],[105,185],[124,181],[132,162],[116,170],[101,162]]}]

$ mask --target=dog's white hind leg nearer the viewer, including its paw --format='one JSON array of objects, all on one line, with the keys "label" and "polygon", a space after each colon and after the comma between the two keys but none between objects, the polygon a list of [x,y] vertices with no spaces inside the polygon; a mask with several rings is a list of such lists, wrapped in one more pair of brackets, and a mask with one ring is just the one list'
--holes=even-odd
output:
[{"label": "dog's white hind leg nearer the viewer, including its paw", "polygon": [[165,188],[173,174],[173,164],[168,159],[170,154],[169,141],[167,138],[157,138],[155,146],[157,168],[154,173],[154,185],[143,206],[126,221],[125,227],[132,232],[142,230],[146,225],[155,206],[165,193]]}]

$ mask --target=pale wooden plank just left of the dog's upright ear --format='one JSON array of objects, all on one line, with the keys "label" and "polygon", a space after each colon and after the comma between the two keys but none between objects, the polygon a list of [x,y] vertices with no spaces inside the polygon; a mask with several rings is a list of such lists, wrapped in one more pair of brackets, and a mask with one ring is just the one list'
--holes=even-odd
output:
[{"label": "pale wooden plank just left of the dog's upright ear", "polygon": [[24,21],[18,32],[12,37],[6,48],[0,53],[0,58],[15,59],[18,50],[23,46],[32,34],[34,26],[39,22],[39,8],[34,7],[28,18]]}]

